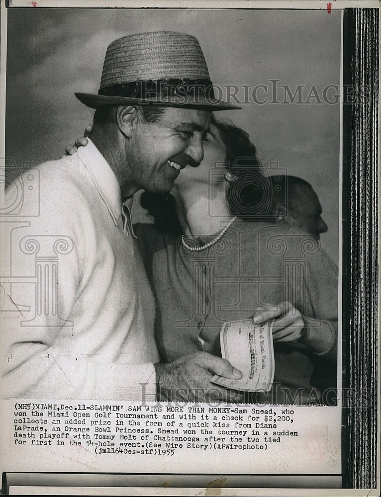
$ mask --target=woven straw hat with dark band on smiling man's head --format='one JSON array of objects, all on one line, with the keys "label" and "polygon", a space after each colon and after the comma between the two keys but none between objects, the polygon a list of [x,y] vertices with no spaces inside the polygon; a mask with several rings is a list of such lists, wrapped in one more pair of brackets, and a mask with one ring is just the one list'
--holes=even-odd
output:
[{"label": "woven straw hat with dark band on smiling man's head", "polygon": [[76,93],[88,107],[153,104],[239,109],[214,97],[213,83],[194,36],[156,31],[113,41],[104,58],[98,94]]}]

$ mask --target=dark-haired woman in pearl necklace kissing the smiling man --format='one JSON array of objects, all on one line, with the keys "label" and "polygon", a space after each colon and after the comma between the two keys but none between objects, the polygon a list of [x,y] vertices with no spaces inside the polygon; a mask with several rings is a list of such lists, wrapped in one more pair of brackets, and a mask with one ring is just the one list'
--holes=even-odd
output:
[{"label": "dark-haired woman in pearl necklace kissing the smiling man", "polygon": [[316,239],[266,216],[271,190],[255,156],[247,133],[212,119],[202,163],[182,170],[171,194],[142,194],[154,225],[135,231],[157,345],[164,361],[220,355],[222,323],[254,311],[257,323],[276,319],[275,377],[249,400],[318,403],[314,365],[337,363],[337,267]]}]

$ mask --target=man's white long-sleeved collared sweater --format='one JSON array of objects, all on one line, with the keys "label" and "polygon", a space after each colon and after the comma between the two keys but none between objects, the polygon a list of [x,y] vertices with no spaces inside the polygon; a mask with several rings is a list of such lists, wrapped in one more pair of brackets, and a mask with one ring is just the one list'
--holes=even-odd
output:
[{"label": "man's white long-sleeved collared sweater", "polygon": [[35,284],[12,295],[30,312],[3,332],[5,396],[154,400],[154,300],[112,169],[90,140],[38,169],[39,216],[11,240]]}]

